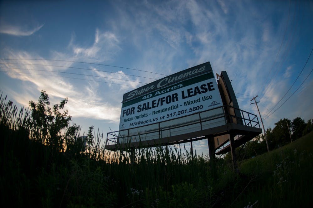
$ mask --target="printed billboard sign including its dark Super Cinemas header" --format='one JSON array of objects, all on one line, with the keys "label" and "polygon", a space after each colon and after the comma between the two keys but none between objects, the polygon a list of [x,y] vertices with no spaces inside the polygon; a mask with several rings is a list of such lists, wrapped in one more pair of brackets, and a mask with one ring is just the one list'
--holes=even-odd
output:
[{"label": "printed billboard sign including its dark Super Cinemas header", "polygon": [[[167,85],[162,84],[164,81]],[[160,83],[162,87],[155,87]],[[127,100],[129,96],[131,99]],[[119,131],[186,117],[223,105],[210,62],[134,89],[125,93],[123,99]]]}]

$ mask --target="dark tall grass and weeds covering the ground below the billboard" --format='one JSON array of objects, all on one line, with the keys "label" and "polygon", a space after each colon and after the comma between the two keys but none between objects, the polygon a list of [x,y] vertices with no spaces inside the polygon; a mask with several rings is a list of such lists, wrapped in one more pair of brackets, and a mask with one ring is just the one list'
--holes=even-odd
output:
[{"label": "dark tall grass and weeds covering the ground below the billboard", "polygon": [[50,118],[41,117],[48,123],[39,127],[32,109],[18,110],[2,95],[0,112],[3,206],[280,207],[297,199],[298,205],[309,204],[312,150],[302,153],[299,145],[296,152],[245,161],[237,173],[223,158],[209,161],[185,146],[136,149],[133,159],[131,152],[106,150],[93,126],[82,147],[80,127],[70,119],[60,128],[53,124],[56,114],[48,113]]}]

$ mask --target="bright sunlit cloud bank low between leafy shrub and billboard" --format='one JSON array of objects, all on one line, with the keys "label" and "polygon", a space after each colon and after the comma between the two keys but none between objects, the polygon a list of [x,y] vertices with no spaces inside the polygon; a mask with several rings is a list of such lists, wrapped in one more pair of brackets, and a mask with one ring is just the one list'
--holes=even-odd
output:
[{"label": "bright sunlit cloud bank low between leafy shrub and billboard", "polygon": [[[25,55],[25,53],[23,53]],[[11,58],[23,57],[23,58],[34,58],[33,56],[21,56],[17,53]],[[36,56],[35,58],[41,58]],[[44,61],[28,60],[28,63],[43,64]],[[89,85],[88,81],[81,81],[79,83],[69,82],[66,78],[54,77],[54,75],[60,75],[54,70],[49,72],[48,66],[42,66],[41,69],[47,70],[47,72],[33,71],[32,65],[6,65],[9,68],[23,67],[21,69],[11,69],[7,74],[15,79],[23,80],[20,85],[23,86],[27,92],[32,92],[32,96],[26,96],[27,98],[36,98],[36,94],[41,90],[45,90],[49,94],[49,98],[52,104],[59,103],[61,99],[68,98],[69,102],[66,105],[66,109],[74,117],[85,117],[92,119],[102,119],[112,122],[117,122],[120,117],[120,106],[112,101],[109,97],[109,102],[105,101],[106,96],[99,96],[98,88],[90,86],[97,86],[96,84]],[[44,75],[46,74],[46,75]],[[111,81],[111,80],[110,80]],[[87,87],[86,87],[87,86]],[[89,87],[88,87],[89,86]],[[106,95],[110,95],[110,87],[105,87],[107,92]],[[34,90],[36,89],[36,90]],[[119,89],[119,88],[118,88]],[[114,91],[114,87],[111,87],[111,91]],[[23,92],[24,93],[24,92]],[[29,93],[27,93],[29,94]],[[20,94],[13,94],[13,98],[23,106],[28,106],[28,99],[24,99],[24,96]],[[33,100],[33,101],[36,101]]]}]

